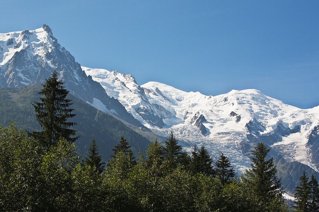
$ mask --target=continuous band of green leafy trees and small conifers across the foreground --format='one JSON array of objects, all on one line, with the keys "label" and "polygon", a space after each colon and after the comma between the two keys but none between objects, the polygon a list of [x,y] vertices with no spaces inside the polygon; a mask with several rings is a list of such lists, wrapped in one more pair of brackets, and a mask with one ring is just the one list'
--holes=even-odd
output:
[{"label": "continuous band of green leafy trees and small conifers across the foreground", "polygon": [[259,152],[263,143],[255,154],[261,164],[253,163],[241,178],[233,179],[231,167],[224,163],[227,157],[222,155],[219,161],[224,162],[217,164],[224,163],[218,166],[225,172],[218,166],[205,166],[211,159],[203,160],[201,150],[188,158],[189,164],[182,164],[183,153],[174,151],[180,147],[170,149],[176,142],[174,136],[164,147],[152,142],[146,155],[139,152],[136,159],[128,142],[121,139],[106,168],[94,139],[82,160],[65,139],[42,151],[39,142],[26,138],[14,123],[0,128],[0,136],[1,211],[288,210],[281,189],[273,181],[260,179],[271,178],[258,175],[261,164],[267,163],[262,156],[265,152]]}]

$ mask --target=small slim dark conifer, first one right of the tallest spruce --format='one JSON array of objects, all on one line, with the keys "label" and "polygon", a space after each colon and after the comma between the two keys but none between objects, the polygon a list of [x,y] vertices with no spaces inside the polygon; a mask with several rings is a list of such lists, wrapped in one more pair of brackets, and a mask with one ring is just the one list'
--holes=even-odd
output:
[{"label": "small slim dark conifer, first one right of the tallest spruce", "polygon": [[102,157],[99,155],[99,148],[96,145],[95,137],[91,140],[91,145],[88,149],[89,154],[85,158],[85,164],[91,167],[95,167],[96,171],[102,173],[105,167],[105,163],[101,163]]}]

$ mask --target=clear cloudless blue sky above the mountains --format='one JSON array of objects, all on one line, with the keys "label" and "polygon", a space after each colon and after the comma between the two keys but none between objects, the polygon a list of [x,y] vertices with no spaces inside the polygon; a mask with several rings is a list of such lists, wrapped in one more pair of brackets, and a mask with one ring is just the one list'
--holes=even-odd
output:
[{"label": "clear cloudless blue sky above the mountains", "polygon": [[219,95],[319,105],[318,1],[4,1],[0,33],[44,22],[82,66]]}]

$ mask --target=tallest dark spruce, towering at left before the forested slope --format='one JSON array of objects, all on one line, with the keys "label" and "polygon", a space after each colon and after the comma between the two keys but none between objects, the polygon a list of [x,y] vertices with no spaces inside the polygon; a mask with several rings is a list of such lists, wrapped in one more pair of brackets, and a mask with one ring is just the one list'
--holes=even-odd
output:
[{"label": "tallest dark spruce, towering at left before the forested slope", "polygon": [[45,80],[45,84],[39,95],[41,102],[35,102],[33,107],[35,116],[43,131],[28,132],[29,136],[37,139],[41,146],[50,148],[54,143],[63,137],[68,142],[74,142],[79,137],[71,138],[76,134],[76,130],[69,129],[71,126],[76,125],[74,122],[67,122],[67,119],[74,117],[72,114],[75,109],[69,109],[72,100],[67,99],[69,91],[64,89],[64,82],[58,80],[58,73],[54,70],[49,77]]}]

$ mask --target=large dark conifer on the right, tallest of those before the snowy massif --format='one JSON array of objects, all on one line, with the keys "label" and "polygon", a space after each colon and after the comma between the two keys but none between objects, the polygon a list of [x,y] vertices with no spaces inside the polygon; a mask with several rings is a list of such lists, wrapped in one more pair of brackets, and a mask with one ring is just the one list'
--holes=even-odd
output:
[{"label": "large dark conifer on the right, tallest of those before the snowy massif", "polygon": [[252,173],[257,179],[257,192],[263,197],[278,197],[282,199],[283,188],[281,186],[281,179],[278,179],[276,176],[276,165],[272,157],[266,159],[270,149],[263,142],[259,142],[254,148],[255,150],[251,151],[255,156],[251,158],[253,161],[251,167]]}]

